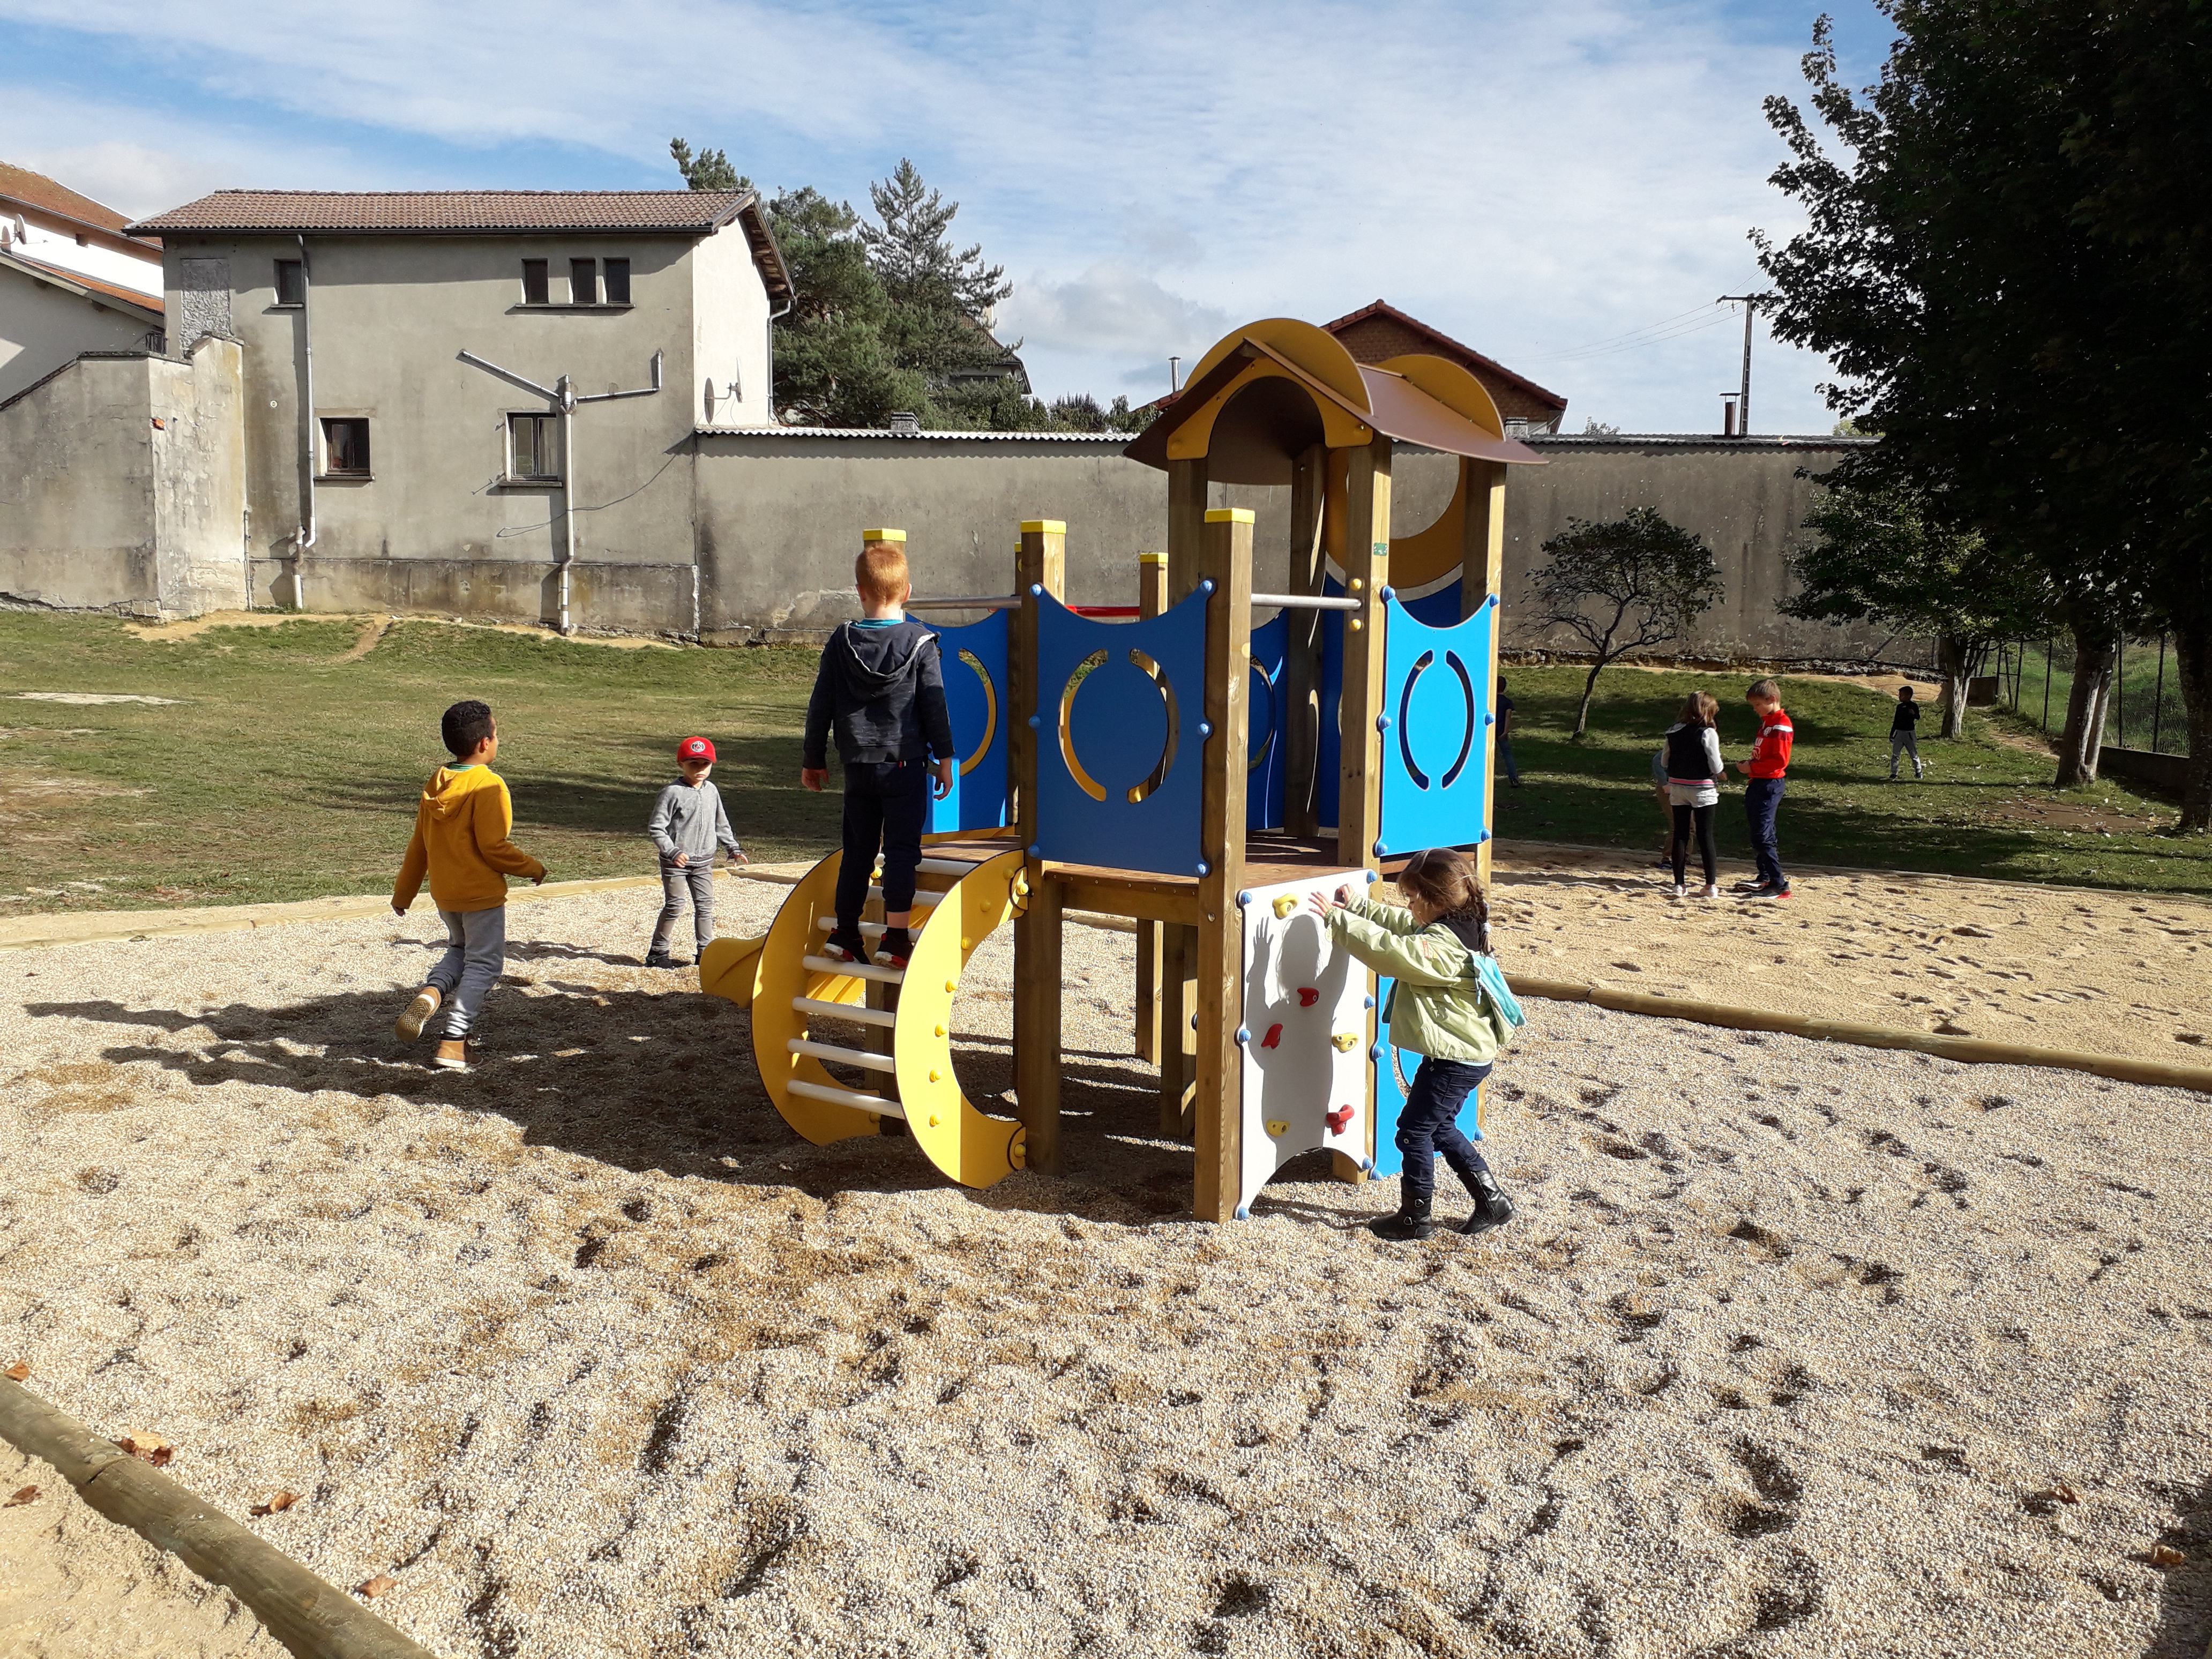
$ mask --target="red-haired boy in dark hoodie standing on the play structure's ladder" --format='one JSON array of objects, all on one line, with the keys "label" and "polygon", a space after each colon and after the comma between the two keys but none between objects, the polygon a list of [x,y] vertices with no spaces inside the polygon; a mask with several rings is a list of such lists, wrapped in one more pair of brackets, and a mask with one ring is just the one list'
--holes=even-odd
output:
[{"label": "red-haired boy in dark hoodie standing on the play structure's ladder", "polygon": [[827,737],[836,728],[836,752],[845,763],[845,860],[836,876],[836,931],[830,933],[827,956],[869,960],[860,909],[880,845],[883,951],[876,960],[889,967],[905,967],[911,951],[907,922],[931,774],[940,801],[953,787],[945,668],[938,637],[905,613],[914,595],[905,542],[905,531],[867,531],[867,546],[854,560],[860,619],[841,626],[823,646],[799,772],[805,787],[823,787]]}]

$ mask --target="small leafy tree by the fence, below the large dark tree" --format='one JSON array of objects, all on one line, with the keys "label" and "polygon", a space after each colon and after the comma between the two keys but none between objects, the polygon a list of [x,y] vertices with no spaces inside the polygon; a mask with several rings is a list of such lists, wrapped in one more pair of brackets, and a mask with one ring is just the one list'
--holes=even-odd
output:
[{"label": "small leafy tree by the fence, below the large dark tree", "polygon": [[1936,639],[1942,734],[1966,726],[1966,679],[2002,639],[2051,626],[2051,582],[1980,531],[1947,524],[1905,484],[1829,484],[1805,520],[1818,533],[1790,564],[1803,591],[1783,613],[1807,622],[1882,622]]}]

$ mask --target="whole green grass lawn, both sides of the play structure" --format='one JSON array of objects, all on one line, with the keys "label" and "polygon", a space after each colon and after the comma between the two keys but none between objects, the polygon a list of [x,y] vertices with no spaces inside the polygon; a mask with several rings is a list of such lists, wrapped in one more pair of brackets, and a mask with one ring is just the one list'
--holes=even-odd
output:
[{"label": "whole green grass lawn, both sides of the play structure", "polygon": [[[799,787],[812,650],[617,650],[407,622],[354,655],[361,637],[301,619],[157,641],[104,617],[0,613],[0,914],[383,891],[442,759],[438,714],[460,697],[498,712],[515,841],[555,878],[653,872],[644,818],[688,732],[714,739],[714,779],[757,860],[836,841],[838,796]],[[1528,787],[1500,794],[1509,841],[1657,849],[1648,757],[1688,690],[1723,699],[1730,759],[1750,748],[1745,677],[1613,670],[1582,743],[1568,741],[1582,670],[1511,681]],[[1922,741],[1927,783],[1882,783],[1885,697],[1834,681],[1785,692],[1790,860],[2212,891],[2212,841],[2163,834],[2170,805],[2110,783],[2057,794],[2051,761],[2000,743],[1980,714],[1960,743]],[[1747,856],[1739,796],[1732,781],[1730,858]]]}]

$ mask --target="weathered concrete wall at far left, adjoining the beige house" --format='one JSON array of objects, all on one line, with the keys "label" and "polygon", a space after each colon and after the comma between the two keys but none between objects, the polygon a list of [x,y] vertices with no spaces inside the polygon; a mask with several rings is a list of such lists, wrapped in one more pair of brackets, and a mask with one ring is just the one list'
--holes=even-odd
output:
[{"label": "weathered concrete wall at far left, adjoining the beige house", "polygon": [[[161,425],[155,425],[155,422]],[[84,356],[0,407],[0,597],[197,613],[243,593],[239,349]]]}]

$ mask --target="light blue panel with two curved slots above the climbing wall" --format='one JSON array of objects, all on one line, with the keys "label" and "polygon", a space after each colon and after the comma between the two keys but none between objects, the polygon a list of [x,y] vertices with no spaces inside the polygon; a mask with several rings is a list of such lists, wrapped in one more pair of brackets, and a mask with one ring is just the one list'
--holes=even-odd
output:
[{"label": "light blue panel with two curved slots above the climbing wall", "polygon": [[1378,856],[1471,847],[1484,836],[1486,728],[1495,714],[1495,599],[1467,622],[1431,628],[1383,588],[1383,832]]}]

